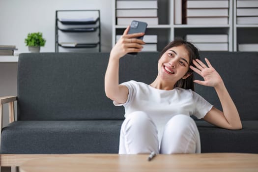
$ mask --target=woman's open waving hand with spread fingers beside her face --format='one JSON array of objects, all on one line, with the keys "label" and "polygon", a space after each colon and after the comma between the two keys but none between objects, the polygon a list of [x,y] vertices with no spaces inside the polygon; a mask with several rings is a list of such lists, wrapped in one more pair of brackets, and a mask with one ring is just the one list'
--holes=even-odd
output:
[{"label": "woman's open waving hand with spread fingers beside her face", "polygon": [[193,63],[196,67],[190,66],[190,68],[201,75],[204,81],[195,80],[194,82],[203,86],[221,86],[223,80],[220,74],[212,67],[209,60],[205,58],[207,66],[199,59],[193,60]]}]

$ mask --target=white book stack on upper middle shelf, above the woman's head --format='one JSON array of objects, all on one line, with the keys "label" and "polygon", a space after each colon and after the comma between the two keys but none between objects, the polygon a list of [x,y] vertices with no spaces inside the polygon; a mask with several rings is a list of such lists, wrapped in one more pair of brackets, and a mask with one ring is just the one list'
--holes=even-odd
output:
[{"label": "white book stack on upper middle shelf, above the woman's head", "polygon": [[183,24],[227,25],[229,0],[183,0]]}]

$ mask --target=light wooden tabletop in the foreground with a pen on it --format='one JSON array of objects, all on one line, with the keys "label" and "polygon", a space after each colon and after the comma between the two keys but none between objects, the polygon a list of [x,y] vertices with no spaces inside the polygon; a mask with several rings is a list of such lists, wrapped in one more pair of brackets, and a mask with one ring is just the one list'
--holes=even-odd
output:
[{"label": "light wooden tabletop in the foreground with a pen on it", "polygon": [[258,172],[258,154],[71,154],[29,160],[20,172]]}]

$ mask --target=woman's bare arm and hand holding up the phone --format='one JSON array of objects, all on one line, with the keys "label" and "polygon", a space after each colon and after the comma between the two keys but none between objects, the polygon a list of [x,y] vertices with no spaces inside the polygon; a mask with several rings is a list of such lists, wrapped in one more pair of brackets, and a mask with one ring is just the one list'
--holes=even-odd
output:
[{"label": "woman's bare arm and hand holding up the phone", "polygon": [[143,36],[144,33],[127,34],[129,27],[125,29],[121,38],[111,50],[109,63],[105,75],[105,92],[107,97],[117,103],[124,103],[127,100],[128,88],[119,85],[119,59],[131,52],[140,52],[144,42],[135,37]]}]

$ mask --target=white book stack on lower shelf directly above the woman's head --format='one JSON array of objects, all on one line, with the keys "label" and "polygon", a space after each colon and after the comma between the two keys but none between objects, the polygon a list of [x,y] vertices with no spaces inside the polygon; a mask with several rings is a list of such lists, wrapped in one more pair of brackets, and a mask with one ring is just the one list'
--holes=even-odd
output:
[{"label": "white book stack on lower shelf directly above the woman's head", "polygon": [[185,40],[200,51],[229,51],[227,34],[187,34]]}]

